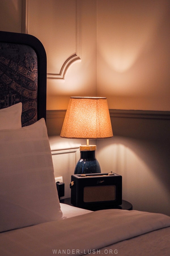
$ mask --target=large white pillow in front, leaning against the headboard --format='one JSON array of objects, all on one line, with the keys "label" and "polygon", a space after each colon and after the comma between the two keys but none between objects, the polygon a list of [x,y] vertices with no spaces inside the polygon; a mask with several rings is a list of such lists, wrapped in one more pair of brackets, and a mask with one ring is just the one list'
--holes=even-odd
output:
[{"label": "large white pillow in front, leaning against the headboard", "polygon": [[44,119],[0,130],[0,232],[62,217]]}]

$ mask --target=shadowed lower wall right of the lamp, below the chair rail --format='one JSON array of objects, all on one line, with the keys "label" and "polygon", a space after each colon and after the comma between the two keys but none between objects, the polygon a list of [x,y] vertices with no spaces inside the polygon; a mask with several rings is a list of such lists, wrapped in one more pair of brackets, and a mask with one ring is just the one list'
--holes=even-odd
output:
[{"label": "shadowed lower wall right of the lamp, below the chair rail", "polygon": [[102,172],[122,175],[123,199],[134,210],[170,215],[170,120],[117,119],[114,137],[97,141]]}]

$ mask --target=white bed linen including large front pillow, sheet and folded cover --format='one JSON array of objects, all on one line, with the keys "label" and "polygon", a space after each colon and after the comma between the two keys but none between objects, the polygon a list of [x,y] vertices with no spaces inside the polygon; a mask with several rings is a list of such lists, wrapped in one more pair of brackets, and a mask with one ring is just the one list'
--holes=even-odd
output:
[{"label": "white bed linen including large front pillow, sheet and folded cover", "polygon": [[45,121],[9,128],[0,130],[0,255],[169,255],[169,216],[60,204]]}]

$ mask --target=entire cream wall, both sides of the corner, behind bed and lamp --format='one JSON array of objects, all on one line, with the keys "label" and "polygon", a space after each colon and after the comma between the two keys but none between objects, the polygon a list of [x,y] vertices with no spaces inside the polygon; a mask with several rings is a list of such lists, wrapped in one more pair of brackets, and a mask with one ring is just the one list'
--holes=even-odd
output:
[{"label": "entire cream wall, both sides of the corner, behind bed and lamp", "polygon": [[[47,128],[55,175],[63,176],[65,197],[70,196],[70,176],[84,143],[59,137],[69,97],[107,96],[109,108],[116,109],[111,110],[114,137],[91,141],[97,143],[102,172],[122,175],[123,199],[134,209],[170,215],[169,3],[0,1],[0,30],[28,31],[47,52]],[[70,63],[63,79],[65,61]]]}]

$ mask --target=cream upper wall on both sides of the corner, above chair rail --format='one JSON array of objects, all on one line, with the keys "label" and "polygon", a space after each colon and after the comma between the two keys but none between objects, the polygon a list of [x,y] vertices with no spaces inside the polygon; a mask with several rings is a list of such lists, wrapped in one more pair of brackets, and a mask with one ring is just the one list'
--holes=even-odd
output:
[{"label": "cream upper wall on both sides of the corner, above chair rail", "polygon": [[[28,32],[44,44],[48,72],[58,72],[79,45],[82,61],[65,80],[47,79],[48,110],[66,109],[70,96],[96,94],[107,96],[110,109],[170,110],[169,0],[24,2]],[[22,0],[0,6],[0,29],[22,32]]]}]

